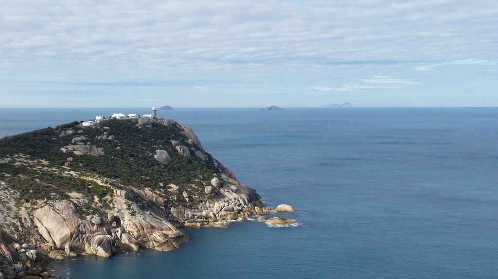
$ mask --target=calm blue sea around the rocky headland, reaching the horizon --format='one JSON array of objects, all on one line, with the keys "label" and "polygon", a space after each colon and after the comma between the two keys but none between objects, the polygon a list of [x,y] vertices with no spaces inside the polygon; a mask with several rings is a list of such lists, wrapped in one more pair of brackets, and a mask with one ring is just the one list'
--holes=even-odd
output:
[{"label": "calm blue sea around the rocky headland, reaching the horizon", "polygon": [[[0,137],[148,109],[0,109]],[[175,109],[295,227],[192,228],[171,252],[53,262],[59,278],[496,279],[498,108]]]}]

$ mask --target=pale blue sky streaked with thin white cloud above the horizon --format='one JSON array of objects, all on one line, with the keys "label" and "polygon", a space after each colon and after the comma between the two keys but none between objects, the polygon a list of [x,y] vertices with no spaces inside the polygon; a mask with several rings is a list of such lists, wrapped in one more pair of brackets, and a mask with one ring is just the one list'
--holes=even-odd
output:
[{"label": "pale blue sky streaked with thin white cloud above the horizon", "polygon": [[496,0],[0,1],[0,107],[498,106]]}]

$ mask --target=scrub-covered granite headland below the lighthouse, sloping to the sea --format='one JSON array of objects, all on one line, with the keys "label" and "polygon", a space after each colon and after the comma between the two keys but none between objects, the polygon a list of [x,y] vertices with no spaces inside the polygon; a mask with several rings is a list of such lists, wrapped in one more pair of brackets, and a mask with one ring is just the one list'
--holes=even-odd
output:
[{"label": "scrub-covered granite headland below the lighthouse, sloping to the sea", "polygon": [[172,119],[73,122],[6,137],[0,279],[46,278],[50,258],[172,250],[189,240],[183,226],[268,213],[259,198]]}]

